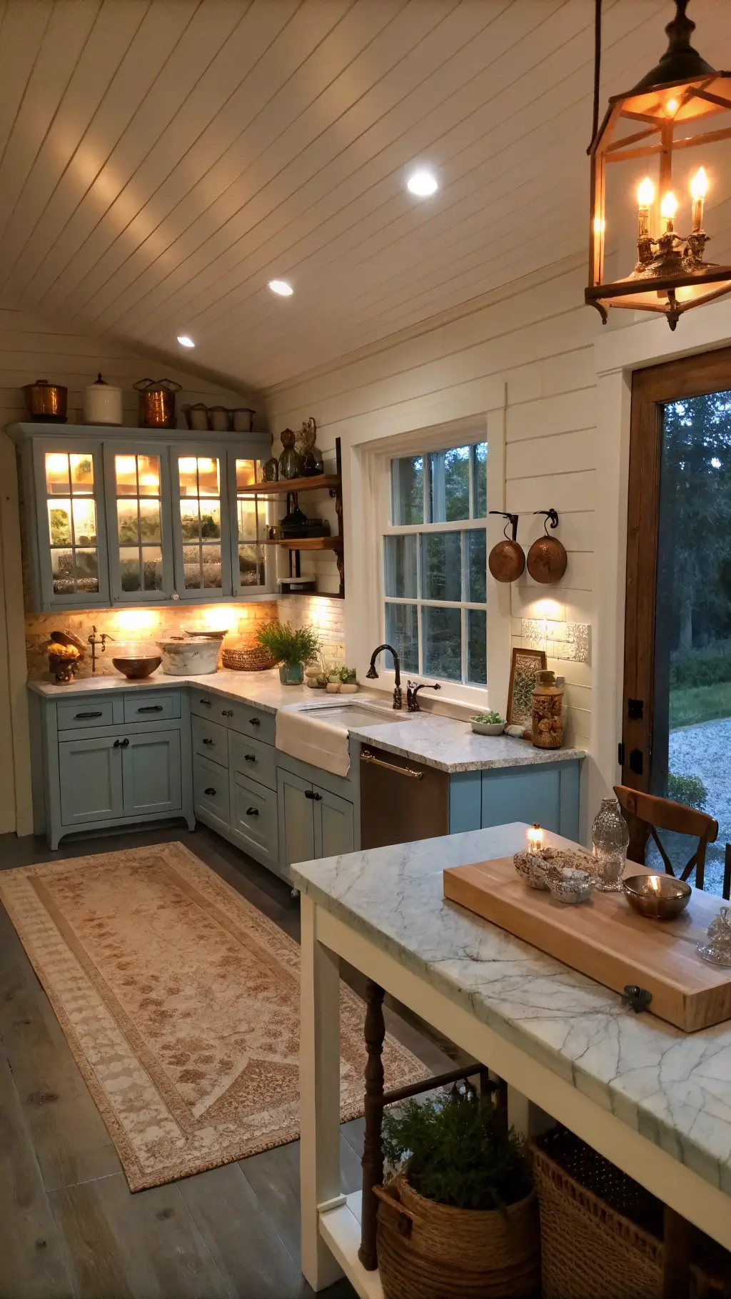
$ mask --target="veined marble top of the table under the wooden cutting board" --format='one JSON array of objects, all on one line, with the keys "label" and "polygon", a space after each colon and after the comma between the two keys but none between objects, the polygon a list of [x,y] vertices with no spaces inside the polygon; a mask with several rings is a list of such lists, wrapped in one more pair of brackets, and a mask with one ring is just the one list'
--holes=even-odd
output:
[{"label": "veined marble top of the table under the wooden cutting board", "polygon": [[[731,1024],[682,1033],[443,898],[441,870],[522,848],[518,822],[300,863],[292,882],[404,968],[731,1194]],[[567,843],[547,834],[549,843]],[[719,899],[719,905],[722,899]]]}]

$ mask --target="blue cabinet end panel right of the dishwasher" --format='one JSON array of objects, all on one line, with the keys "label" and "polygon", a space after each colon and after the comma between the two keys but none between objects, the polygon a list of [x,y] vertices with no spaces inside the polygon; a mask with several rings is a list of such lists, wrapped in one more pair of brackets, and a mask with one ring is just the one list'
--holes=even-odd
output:
[{"label": "blue cabinet end panel right of the dishwasher", "polygon": [[538,821],[579,838],[579,763],[458,772],[449,781],[449,833]]}]

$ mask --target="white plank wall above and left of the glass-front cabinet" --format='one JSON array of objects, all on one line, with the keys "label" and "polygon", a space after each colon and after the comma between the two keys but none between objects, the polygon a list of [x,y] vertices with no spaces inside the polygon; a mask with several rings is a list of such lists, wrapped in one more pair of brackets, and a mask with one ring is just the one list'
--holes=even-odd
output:
[{"label": "white plank wall above and left of the glass-front cabinet", "polygon": [[[83,390],[97,372],[125,392],[125,420],[138,422],[136,379],[162,374],[183,385],[183,401],[251,405],[264,417],[264,401],[253,392],[231,392],[192,378],[167,361],[138,356],[109,338],[91,339],[62,330],[19,310],[0,309],[0,429],[27,418],[23,383],[49,379],[69,388],[69,422],[81,422]],[[179,416],[179,423],[183,423]],[[21,536],[16,448],[0,433],[0,834],[18,829],[30,834],[30,747],[26,703],[25,611],[21,575]],[[12,743],[5,740],[12,738]]]}]

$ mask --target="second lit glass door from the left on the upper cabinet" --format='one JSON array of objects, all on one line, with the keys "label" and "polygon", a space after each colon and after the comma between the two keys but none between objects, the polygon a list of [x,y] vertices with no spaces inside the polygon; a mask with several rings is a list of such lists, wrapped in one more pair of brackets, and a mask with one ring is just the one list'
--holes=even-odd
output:
[{"label": "second lit glass door from the left on the upper cabinet", "polygon": [[109,574],[116,603],[173,594],[167,449],[105,446]]}]

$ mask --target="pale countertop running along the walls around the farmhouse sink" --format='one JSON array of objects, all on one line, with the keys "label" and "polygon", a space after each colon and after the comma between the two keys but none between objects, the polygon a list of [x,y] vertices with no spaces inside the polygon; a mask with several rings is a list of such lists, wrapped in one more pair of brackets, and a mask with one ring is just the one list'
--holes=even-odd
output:
[{"label": "pale countertop running along the walls around the farmhouse sink", "polygon": [[[223,699],[238,699],[266,713],[277,713],[280,708],[303,703],[317,703],[318,707],[341,705],[345,700],[377,700],[383,703],[383,694],[361,691],[358,695],[323,695],[308,686],[283,686],[279,672],[231,672],[226,668],[216,673],[197,677],[167,677],[158,668],[144,681],[127,681],[126,677],[81,677],[65,685],[55,681],[29,681],[29,690],[47,699],[73,699],[95,691],[117,690],[175,690],[182,686],[200,686],[214,691]],[[425,763],[440,772],[477,772],[497,766],[535,766],[543,763],[567,763],[586,757],[583,748],[534,748],[528,740],[512,739],[508,735],[475,735],[469,722],[456,721],[438,713],[404,713],[403,720],[375,726],[349,727],[349,734],[362,743],[375,744],[390,753],[400,753],[414,763]]]}]

